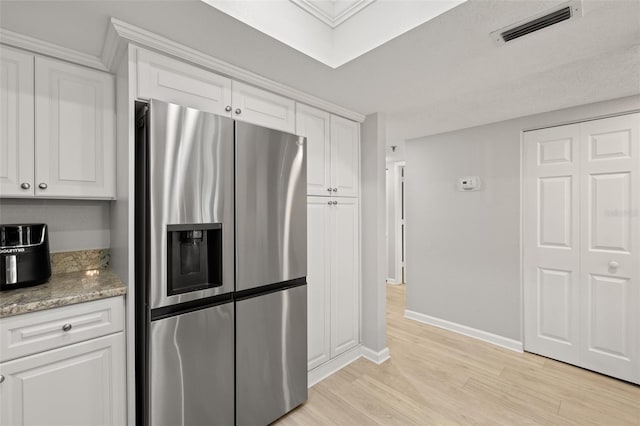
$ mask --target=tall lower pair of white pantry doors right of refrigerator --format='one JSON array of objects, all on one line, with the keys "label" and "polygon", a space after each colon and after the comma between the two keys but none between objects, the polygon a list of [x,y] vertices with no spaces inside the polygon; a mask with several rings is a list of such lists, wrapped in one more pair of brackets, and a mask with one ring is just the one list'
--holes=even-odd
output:
[{"label": "tall lower pair of white pantry doors right of refrigerator", "polygon": [[360,341],[358,199],[308,197],[308,369]]}]

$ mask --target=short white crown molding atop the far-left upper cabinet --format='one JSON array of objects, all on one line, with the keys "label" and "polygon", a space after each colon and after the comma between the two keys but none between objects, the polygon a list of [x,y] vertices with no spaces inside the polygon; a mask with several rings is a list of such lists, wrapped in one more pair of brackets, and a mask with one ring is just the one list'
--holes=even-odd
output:
[{"label": "short white crown molding atop the far-left upper cabinet", "polygon": [[29,50],[40,55],[51,56],[56,59],[73,62],[86,67],[107,71],[108,68],[97,56],[78,52],[67,47],[49,43],[48,41],[29,37],[4,28],[0,28],[0,43],[8,46]]}]

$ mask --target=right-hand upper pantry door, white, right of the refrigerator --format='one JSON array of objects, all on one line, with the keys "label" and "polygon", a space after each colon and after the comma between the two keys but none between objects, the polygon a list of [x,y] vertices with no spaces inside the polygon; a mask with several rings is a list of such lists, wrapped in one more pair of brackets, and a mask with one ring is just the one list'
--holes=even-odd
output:
[{"label": "right-hand upper pantry door, white, right of the refrigerator", "polygon": [[357,197],[360,180],[360,124],[331,116],[331,188],[338,197]]}]

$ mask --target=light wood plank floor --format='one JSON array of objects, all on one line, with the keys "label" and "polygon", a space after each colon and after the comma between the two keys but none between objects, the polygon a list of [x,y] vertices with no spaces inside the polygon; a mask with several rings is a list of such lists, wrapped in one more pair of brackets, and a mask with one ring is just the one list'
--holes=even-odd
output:
[{"label": "light wood plank floor", "polygon": [[387,287],[391,359],[360,359],[309,389],[286,425],[640,425],[640,386],[404,318]]}]

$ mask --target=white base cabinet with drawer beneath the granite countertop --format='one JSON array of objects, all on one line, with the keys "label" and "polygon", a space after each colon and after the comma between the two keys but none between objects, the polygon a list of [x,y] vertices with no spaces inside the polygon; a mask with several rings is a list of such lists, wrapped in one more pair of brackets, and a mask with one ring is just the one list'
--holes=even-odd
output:
[{"label": "white base cabinet with drawer beneath the granite countertop", "polygon": [[0,425],[124,425],[123,320],[122,297],[3,318],[28,355],[0,363]]}]

